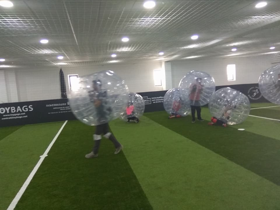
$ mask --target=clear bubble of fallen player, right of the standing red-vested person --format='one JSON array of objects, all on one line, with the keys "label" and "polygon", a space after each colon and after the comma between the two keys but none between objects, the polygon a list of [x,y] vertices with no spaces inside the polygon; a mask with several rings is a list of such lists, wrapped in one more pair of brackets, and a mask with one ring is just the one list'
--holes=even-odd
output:
[{"label": "clear bubble of fallen player, right of the standing red-vested person", "polygon": [[246,120],[250,113],[250,101],[246,95],[232,88],[222,88],[211,96],[209,111],[213,117],[228,125]]}]

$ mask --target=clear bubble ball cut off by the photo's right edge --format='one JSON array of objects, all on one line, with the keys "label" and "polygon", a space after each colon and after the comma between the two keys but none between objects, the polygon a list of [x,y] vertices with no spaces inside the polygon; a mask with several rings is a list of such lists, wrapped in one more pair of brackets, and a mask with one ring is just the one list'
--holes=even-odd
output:
[{"label": "clear bubble ball cut off by the photo's right edge", "polygon": [[259,78],[260,92],[267,100],[280,104],[280,65],[265,70]]}]

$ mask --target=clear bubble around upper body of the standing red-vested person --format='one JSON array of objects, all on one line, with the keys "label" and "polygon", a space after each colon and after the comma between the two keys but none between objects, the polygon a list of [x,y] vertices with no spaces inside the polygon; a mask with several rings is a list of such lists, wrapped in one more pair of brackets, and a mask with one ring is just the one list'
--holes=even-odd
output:
[{"label": "clear bubble around upper body of the standing red-vested person", "polygon": [[208,104],[215,92],[215,80],[202,71],[190,71],[180,81],[179,90],[184,101],[190,100],[192,106]]}]

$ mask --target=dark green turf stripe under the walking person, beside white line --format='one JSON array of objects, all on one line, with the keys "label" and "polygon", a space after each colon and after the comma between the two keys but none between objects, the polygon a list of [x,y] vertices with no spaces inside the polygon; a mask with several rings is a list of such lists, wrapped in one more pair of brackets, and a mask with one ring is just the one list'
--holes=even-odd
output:
[{"label": "dark green turf stripe under the walking person, beside white line", "polygon": [[124,154],[103,139],[99,157],[86,159],[94,128],[69,121],[16,210],[152,209]]}]

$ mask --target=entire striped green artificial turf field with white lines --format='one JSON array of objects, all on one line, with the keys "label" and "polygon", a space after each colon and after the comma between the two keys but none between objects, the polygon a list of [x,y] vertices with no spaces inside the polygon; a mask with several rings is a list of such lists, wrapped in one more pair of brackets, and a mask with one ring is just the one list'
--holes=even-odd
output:
[{"label": "entire striped green artificial turf field with white lines", "polygon": [[251,108],[226,128],[207,124],[207,108],[203,122],[165,111],[138,124],[114,120],[123,151],[103,139],[92,159],[94,127],[78,120],[1,127],[0,210],[280,209],[280,106]]}]

